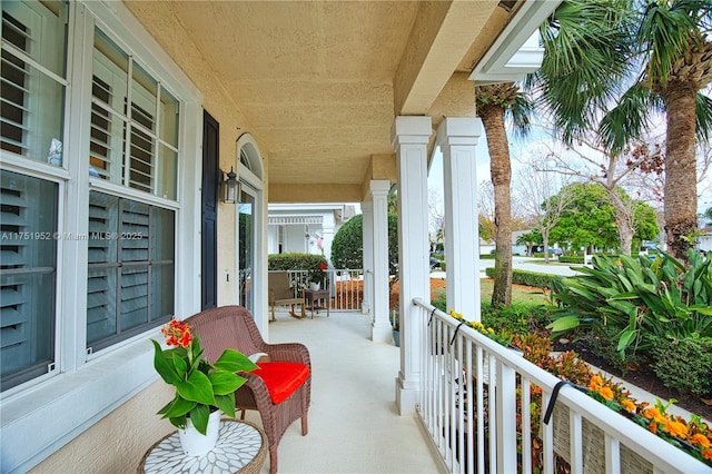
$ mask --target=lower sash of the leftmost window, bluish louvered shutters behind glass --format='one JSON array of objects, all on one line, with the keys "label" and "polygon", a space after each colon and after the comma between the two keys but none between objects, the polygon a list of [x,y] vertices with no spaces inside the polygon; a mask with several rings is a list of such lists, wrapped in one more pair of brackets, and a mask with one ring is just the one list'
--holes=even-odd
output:
[{"label": "lower sash of the leftmost window, bluish louvered shutters behind glass", "polygon": [[0,367],[3,388],[55,361],[57,184],[0,172]]}]

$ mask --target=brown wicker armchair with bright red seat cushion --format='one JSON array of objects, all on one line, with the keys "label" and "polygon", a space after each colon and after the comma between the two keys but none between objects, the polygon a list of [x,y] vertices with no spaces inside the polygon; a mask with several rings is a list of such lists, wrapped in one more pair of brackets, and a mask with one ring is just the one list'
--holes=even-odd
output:
[{"label": "brown wicker armchair with bright red seat cushion", "polygon": [[[301,418],[301,435],[306,436],[308,431],[307,412],[312,396],[312,362],[308,349],[298,343],[265,343],[253,315],[243,306],[206,309],[186,322],[200,337],[204,356],[210,362],[215,362],[226,348],[234,348],[248,356],[265,353],[269,357],[268,363],[258,363],[260,369],[246,374],[247,383],[235,393],[235,405],[238,409],[259,412],[269,442],[269,472],[276,473],[277,447],[287,427],[297,418]],[[275,379],[285,378],[288,375],[278,369],[269,376],[267,372],[270,365],[303,368],[299,382],[277,381],[284,382],[281,393],[277,395],[278,403],[274,403]],[[304,382],[300,382],[301,378]]]}]

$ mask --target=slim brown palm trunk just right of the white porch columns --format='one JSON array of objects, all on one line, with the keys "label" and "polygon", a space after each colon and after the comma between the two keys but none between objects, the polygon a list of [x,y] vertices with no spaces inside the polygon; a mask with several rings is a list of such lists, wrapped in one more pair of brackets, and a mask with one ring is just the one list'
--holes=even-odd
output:
[{"label": "slim brown palm trunk just right of the white porch columns", "polygon": [[495,260],[492,306],[495,308],[512,304],[512,201],[510,184],[512,165],[510,142],[504,128],[502,107],[482,107],[482,122],[487,136],[490,150],[490,174],[494,186]]}]

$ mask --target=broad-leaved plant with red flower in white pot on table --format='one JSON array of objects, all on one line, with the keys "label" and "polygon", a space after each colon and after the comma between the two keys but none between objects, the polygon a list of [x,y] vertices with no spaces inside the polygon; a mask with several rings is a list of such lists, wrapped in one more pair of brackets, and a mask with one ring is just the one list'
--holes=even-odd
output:
[{"label": "broad-leaved plant with red flower in white pot on table", "polygon": [[246,382],[237,374],[257,366],[234,349],[208,363],[202,358],[200,340],[184,322],[174,319],[161,327],[161,333],[172,348],[162,349],[151,339],[154,367],[164,382],[176,386],[176,396],[158,414],[179,429],[186,454],[205,454],[217,442],[220,414],[235,417],[235,391]]}]

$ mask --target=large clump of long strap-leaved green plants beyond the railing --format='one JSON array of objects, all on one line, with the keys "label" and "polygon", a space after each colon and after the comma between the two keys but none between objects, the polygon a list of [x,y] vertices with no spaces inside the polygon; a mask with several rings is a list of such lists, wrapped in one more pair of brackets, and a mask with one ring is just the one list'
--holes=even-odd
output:
[{"label": "large clump of long strap-leaved green plants beyond the railing", "polygon": [[652,336],[712,337],[712,259],[693,250],[688,258],[690,268],[664,253],[593,257],[584,275],[554,280],[552,337],[609,326],[621,358],[629,347],[649,348]]}]

